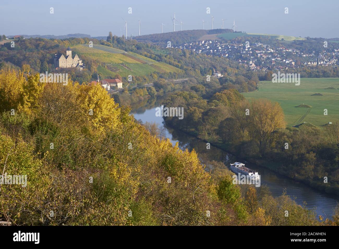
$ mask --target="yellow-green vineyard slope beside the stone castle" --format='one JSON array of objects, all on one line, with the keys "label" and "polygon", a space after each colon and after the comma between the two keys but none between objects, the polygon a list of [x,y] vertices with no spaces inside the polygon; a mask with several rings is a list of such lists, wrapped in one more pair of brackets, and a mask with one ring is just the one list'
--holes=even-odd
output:
[{"label": "yellow-green vineyard slope beside the stone castle", "polygon": [[72,49],[84,56],[86,59],[97,60],[102,63],[98,66],[98,72],[102,77],[114,77],[119,74],[122,77],[128,75],[144,76],[153,72],[180,72],[179,68],[163,62],[157,62],[142,55],[126,52],[121,49],[93,44],[93,48],[88,45],[76,45]]}]

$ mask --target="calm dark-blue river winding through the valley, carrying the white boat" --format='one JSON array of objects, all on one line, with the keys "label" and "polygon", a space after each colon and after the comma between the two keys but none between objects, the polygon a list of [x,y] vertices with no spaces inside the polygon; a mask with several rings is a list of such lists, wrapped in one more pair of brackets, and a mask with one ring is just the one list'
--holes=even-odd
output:
[{"label": "calm dark-blue river winding through the valley, carrying the white boat", "polygon": [[[143,104],[132,106],[131,113],[135,119],[140,119],[143,123],[155,122],[161,126],[163,125],[163,118],[156,117],[155,113],[156,107],[161,106],[163,99],[164,97],[160,99],[153,98],[147,100],[147,103],[144,102]],[[333,209],[337,205],[337,202],[339,202],[339,196],[317,191],[303,183],[278,175],[271,170],[235,158],[233,155],[214,146],[211,146],[211,149],[208,151],[209,153],[206,153],[205,142],[169,127],[165,127],[165,131],[166,137],[171,140],[173,145],[179,142],[181,149],[187,148],[191,151],[194,148],[198,156],[200,153],[203,153],[204,158],[207,157],[208,160],[222,161],[226,162],[226,164],[231,161],[246,163],[247,167],[258,171],[261,176],[261,186],[263,184],[267,185],[273,196],[280,196],[283,189],[286,189],[288,195],[296,198],[295,201],[297,204],[302,205],[303,201],[306,201],[308,208],[316,207],[317,215],[327,216],[329,219],[332,219]]]}]

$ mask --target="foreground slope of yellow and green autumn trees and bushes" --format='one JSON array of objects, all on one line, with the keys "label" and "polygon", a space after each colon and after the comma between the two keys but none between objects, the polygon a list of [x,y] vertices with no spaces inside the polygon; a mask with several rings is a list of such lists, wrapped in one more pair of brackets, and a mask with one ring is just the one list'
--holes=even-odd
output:
[{"label": "foreground slope of yellow and green autumn trees and bushes", "polygon": [[[0,220],[13,225],[319,225],[265,188],[243,191],[223,165],[152,137],[98,85],[0,73]],[[290,215],[284,215],[285,210]],[[338,210],[334,223],[338,224]],[[52,215],[53,214],[53,215]]]}]

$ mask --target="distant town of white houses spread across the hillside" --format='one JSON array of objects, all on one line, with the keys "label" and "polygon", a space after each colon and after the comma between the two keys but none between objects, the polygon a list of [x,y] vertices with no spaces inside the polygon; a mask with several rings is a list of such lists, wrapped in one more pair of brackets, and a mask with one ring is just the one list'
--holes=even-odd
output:
[{"label": "distant town of white houses spread across the hillside", "polygon": [[240,65],[247,65],[252,70],[287,69],[305,66],[337,66],[339,49],[323,50],[304,54],[298,49],[285,48],[254,43],[220,43],[218,40],[195,41],[178,46],[180,49],[190,49],[197,54],[205,54],[229,58]]}]

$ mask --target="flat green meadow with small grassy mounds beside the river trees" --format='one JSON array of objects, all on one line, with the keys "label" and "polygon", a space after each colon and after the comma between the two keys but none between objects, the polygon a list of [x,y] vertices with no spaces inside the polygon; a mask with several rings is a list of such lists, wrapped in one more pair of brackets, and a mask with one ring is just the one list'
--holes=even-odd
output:
[{"label": "flat green meadow with small grassy mounds beside the river trees", "polygon": [[[327,87],[337,89],[325,89]],[[304,121],[317,126],[339,121],[339,78],[301,78],[300,85],[295,83],[272,83],[262,81],[258,90],[242,93],[246,99],[270,99],[278,102],[284,110],[288,126]],[[312,96],[313,94],[323,96]],[[312,108],[296,107],[310,105]],[[327,109],[328,115],[324,115]]]}]

